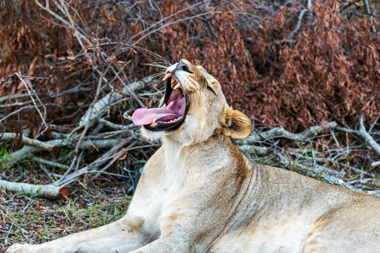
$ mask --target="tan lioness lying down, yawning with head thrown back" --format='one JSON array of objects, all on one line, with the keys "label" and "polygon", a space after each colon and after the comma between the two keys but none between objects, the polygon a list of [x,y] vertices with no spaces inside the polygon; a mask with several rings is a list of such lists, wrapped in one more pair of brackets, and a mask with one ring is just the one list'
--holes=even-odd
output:
[{"label": "tan lioness lying down, yawning with head thrown back", "polygon": [[231,142],[250,120],[219,82],[181,60],[160,106],[138,109],[146,163],[127,214],[111,224],[8,253],[379,253],[380,201],[252,164]]}]

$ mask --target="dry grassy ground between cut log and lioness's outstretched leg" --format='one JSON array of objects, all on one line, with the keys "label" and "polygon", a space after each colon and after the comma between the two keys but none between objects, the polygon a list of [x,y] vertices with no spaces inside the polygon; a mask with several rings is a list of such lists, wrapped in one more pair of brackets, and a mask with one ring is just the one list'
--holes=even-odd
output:
[{"label": "dry grassy ground between cut log and lioness's outstretched leg", "polygon": [[121,218],[130,203],[125,183],[76,184],[69,199],[0,194],[0,252],[14,243],[39,244]]}]

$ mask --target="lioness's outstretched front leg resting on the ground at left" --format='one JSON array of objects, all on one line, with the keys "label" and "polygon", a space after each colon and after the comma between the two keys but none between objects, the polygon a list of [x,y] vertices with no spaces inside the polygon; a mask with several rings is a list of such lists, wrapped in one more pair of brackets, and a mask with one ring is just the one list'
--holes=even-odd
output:
[{"label": "lioness's outstretched front leg resting on the ground at left", "polygon": [[126,214],[119,221],[39,245],[15,244],[7,253],[128,253],[148,243],[142,220]]}]

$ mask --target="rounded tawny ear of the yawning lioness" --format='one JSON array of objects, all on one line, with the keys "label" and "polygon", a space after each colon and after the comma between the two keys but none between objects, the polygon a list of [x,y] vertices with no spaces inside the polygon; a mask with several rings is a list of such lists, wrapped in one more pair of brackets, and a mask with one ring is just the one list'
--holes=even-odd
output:
[{"label": "rounded tawny ear of the yawning lioness", "polygon": [[241,111],[233,110],[232,107],[225,107],[223,117],[223,134],[225,136],[243,139],[251,133],[252,123]]}]

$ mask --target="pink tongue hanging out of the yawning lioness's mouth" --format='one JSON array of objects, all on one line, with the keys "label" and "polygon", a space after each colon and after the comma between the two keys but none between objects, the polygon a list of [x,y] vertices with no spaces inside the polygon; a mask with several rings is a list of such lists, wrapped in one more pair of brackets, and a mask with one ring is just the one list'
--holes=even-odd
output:
[{"label": "pink tongue hanging out of the yawning lioness's mouth", "polygon": [[133,123],[138,126],[149,125],[154,119],[159,121],[171,121],[176,118],[178,118],[178,115],[167,108],[140,108],[132,115]]}]

